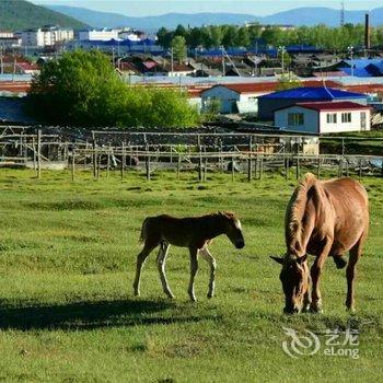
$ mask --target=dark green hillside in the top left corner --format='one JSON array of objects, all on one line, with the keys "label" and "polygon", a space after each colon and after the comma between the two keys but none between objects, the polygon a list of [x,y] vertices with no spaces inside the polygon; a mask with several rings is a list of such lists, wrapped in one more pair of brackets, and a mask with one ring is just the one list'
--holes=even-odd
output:
[{"label": "dark green hillside in the top left corner", "polygon": [[43,25],[82,28],[86,25],[62,13],[24,0],[0,0],[0,30],[20,31]]}]

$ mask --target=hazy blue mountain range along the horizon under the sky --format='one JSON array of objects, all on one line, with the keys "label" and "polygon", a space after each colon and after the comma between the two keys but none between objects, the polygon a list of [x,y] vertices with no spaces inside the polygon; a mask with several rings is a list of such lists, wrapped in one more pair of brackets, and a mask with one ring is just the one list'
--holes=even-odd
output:
[{"label": "hazy blue mountain range along the horizon under the sky", "polygon": [[[244,24],[246,22],[259,22],[262,24],[291,24],[291,25],[339,25],[340,11],[329,8],[312,7],[298,8],[286,12],[275,13],[269,16],[256,16],[254,14],[236,13],[167,13],[158,16],[131,18],[117,13],[91,11],[85,8],[67,5],[47,5],[50,10],[61,12],[82,21],[93,27],[131,26],[144,31],[156,31],[161,26],[175,28],[178,24],[201,26],[204,24]],[[346,23],[363,23],[365,11],[346,11]],[[370,12],[371,25],[383,24],[383,8]]]}]

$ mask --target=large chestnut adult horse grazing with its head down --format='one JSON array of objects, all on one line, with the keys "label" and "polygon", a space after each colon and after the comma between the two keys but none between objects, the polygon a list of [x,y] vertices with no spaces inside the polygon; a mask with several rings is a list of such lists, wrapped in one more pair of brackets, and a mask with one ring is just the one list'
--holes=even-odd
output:
[{"label": "large chestnut adult horse grazing with its head down", "polygon": [[[350,255],[346,306],[353,311],[356,264],[369,230],[368,205],[365,189],[355,179],[318,181],[310,173],[304,176],[287,207],[287,253],[282,258],[271,257],[282,265],[280,280],[286,313],[322,311],[320,276],[324,263],[327,256],[333,256],[337,268],[345,267],[343,255],[347,251]],[[316,257],[311,272],[306,254]]]}]

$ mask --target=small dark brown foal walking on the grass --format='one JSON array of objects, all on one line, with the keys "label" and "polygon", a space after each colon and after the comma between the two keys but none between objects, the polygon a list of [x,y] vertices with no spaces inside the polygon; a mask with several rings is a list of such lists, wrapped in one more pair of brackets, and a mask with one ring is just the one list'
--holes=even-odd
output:
[{"label": "small dark brown foal walking on the grass", "polygon": [[194,279],[198,270],[198,254],[210,264],[210,281],[208,298],[214,294],[216,259],[208,251],[208,244],[220,234],[227,234],[236,248],[245,245],[240,220],[232,212],[218,212],[193,218],[174,218],[171,216],[148,217],[141,229],[143,249],[137,256],[135,295],[140,294],[140,276],[142,266],[149,254],[160,245],[156,257],[163,291],[169,298],[174,298],[165,275],[165,262],[170,245],[188,247],[190,254],[190,281],[188,293],[196,301]]}]

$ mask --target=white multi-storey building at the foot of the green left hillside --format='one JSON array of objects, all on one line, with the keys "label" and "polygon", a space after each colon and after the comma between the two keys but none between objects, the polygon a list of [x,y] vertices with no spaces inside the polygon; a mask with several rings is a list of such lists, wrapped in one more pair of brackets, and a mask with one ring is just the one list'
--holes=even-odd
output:
[{"label": "white multi-storey building at the foot of the green left hillside", "polygon": [[55,46],[73,39],[72,28],[60,28],[57,26],[46,26],[38,30],[23,31],[21,34],[22,45],[28,47]]}]

